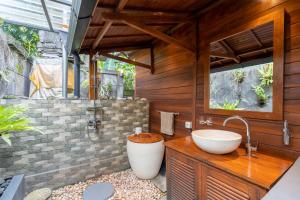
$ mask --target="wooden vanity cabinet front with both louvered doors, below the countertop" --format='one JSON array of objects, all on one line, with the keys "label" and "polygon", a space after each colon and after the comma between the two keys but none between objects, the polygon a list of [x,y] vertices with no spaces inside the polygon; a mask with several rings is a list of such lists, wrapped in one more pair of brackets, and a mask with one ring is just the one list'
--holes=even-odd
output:
[{"label": "wooden vanity cabinet front with both louvered doors, below the countertop", "polygon": [[266,190],[167,148],[168,200],[259,200]]}]

